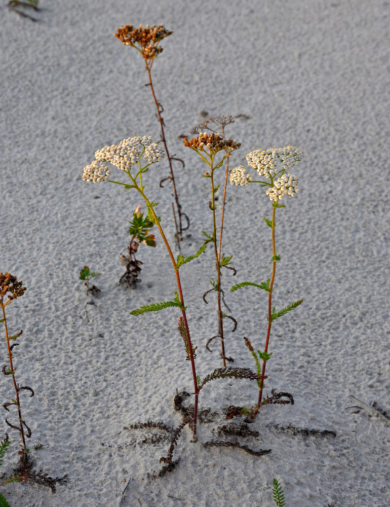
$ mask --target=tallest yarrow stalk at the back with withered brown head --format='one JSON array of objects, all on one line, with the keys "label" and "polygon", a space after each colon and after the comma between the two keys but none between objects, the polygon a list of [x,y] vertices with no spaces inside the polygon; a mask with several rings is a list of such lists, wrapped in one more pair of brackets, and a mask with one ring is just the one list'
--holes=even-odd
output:
[{"label": "tallest yarrow stalk at the back with withered brown head", "polygon": [[[176,235],[177,235],[177,242],[180,245],[180,237],[183,232],[183,230],[188,228],[188,218],[187,215],[181,210],[181,205],[179,203],[179,195],[176,190],[176,184],[175,184],[175,176],[173,174],[173,167],[172,167],[172,160],[178,160],[175,159],[174,156],[170,156],[167,146],[167,140],[165,137],[165,131],[164,131],[164,119],[161,116],[161,114],[164,111],[164,108],[161,104],[161,102],[157,99],[154,88],[153,88],[153,82],[151,79],[151,68],[154,62],[154,58],[157,57],[162,51],[163,48],[160,46],[160,42],[165,38],[168,37],[168,35],[171,35],[173,32],[167,30],[164,28],[163,25],[158,26],[152,26],[149,27],[149,25],[146,25],[146,27],[142,28],[142,25],[139,26],[139,28],[134,28],[133,25],[125,25],[121,26],[121,28],[118,29],[117,33],[114,33],[115,37],[118,38],[122,44],[125,46],[132,46],[137,51],[139,51],[142,55],[142,58],[145,62],[145,68],[147,71],[147,75],[149,78],[148,85],[150,86],[151,93],[153,95],[153,100],[155,103],[155,106],[157,108],[157,118],[160,123],[161,127],[161,136],[162,141],[164,143],[165,153],[167,155],[168,163],[169,163],[169,170],[170,170],[170,176],[168,178],[172,182],[173,187],[173,195],[175,198],[176,208],[177,208],[177,216],[178,220],[176,220],[176,213],[174,211],[173,216],[175,220],[175,227],[176,227]],[[167,179],[167,178],[165,178]],[[163,181],[163,180],[162,180]],[[172,205],[173,207],[173,205]],[[185,216],[187,220],[187,227],[183,228],[182,224],[182,216]]]}]

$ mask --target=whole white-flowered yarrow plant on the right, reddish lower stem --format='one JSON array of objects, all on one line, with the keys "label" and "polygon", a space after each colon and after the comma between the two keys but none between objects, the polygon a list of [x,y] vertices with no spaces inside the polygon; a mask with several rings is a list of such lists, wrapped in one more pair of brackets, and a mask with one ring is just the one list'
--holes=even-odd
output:
[{"label": "whole white-flowered yarrow plant on the right, reddish lower stem", "polygon": [[[239,185],[242,187],[247,186],[249,183],[260,183],[261,187],[268,187],[265,194],[269,196],[272,202],[272,218],[271,220],[264,217],[264,221],[268,227],[271,228],[272,236],[272,273],[271,277],[266,282],[260,284],[254,282],[242,282],[237,285],[233,285],[230,291],[236,291],[238,288],[253,285],[259,287],[268,293],[268,327],[265,338],[264,351],[258,350],[257,352],[253,348],[250,340],[244,338],[246,346],[251,351],[256,361],[257,372],[261,375],[258,380],[259,386],[259,397],[255,409],[252,412],[252,418],[254,418],[259,411],[262,403],[267,403],[270,399],[262,401],[263,387],[264,387],[264,375],[265,365],[267,360],[270,358],[272,353],[268,353],[268,343],[271,334],[272,322],[285,315],[287,312],[293,310],[302,303],[302,299],[295,301],[291,305],[286,306],[282,310],[276,311],[276,307],[272,307],[272,289],[274,287],[274,280],[276,274],[276,264],[281,260],[281,257],[276,252],[275,246],[275,212],[277,208],[284,208],[284,204],[279,202],[285,197],[294,197],[299,192],[297,188],[298,178],[290,174],[288,171],[293,168],[295,162],[303,158],[302,152],[292,146],[284,148],[271,148],[268,150],[254,150],[248,153],[246,156],[248,164],[255,169],[258,174],[262,177],[260,180],[253,180],[250,174],[245,174],[246,169],[240,165],[232,169],[230,173],[230,183],[232,185]],[[286,174],[287,172],[287,174]],[[262,361],[262,363],[261,363]],[[286,393],[285,393],[286,394]],[[291,395],[290,395],[291,396]]]}]

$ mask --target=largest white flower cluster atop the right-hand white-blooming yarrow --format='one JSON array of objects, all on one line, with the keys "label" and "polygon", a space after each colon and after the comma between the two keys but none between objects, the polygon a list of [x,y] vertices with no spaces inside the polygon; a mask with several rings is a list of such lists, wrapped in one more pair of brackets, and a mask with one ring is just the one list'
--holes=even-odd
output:
[{"label": "largest white flower cluster atop the right-hand white-blooming yarrow", "polygon": [[295,162],[303,158],[303,153],[294,146],[284,148],[268,148],[268,150],[254,150],[248,153],[248,164],[256,169],[260,176],[269,178],[270,175],[284,169],[291,170]]}]

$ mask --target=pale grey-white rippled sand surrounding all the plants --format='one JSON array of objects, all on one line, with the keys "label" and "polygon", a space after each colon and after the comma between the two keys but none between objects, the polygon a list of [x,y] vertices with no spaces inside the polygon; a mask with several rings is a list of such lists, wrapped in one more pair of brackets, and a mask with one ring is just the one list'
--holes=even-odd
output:
[{"label": "pale grey-white rippled sand surrounding all the plants", "polygon": [[[38,22],[10,11],[6,0],[0,7],[0,271],[27,286],[8,320],[12,333],[23,329],[17,380],[35,390],[22,399],[29,445],[43,444],[31,452],[37,468],[68,474],[68,482],[55,495],[25,484],[0,492],[12,507],[118,506],[130,480],[123,506],[268,507],[275,505],[276,477],[290,507],[388,506],[390,426],[348,407],[359,405],[354,395],[390,410],[389,3],[41,0],[40,7],[31,13]],[[175,452],[179,465],[155,480],[147,473],[161,467],[167,443],[143,444],[151,432],[124,426],[149,419],[177,426],[173,396],[176,388],[191,390],[191,374],[178,311],[129,312],[171,299],[174,273],[158,238],[156,248],[139,249],[139,287],[118,285],[119,252],[140,200],[116,185],[81,179],[104,144],[134,135],[160,138],[143,60],[113,37],[127,23],[163,23],[174,31],[163,41],[153,78],[171,153],[186,164],[175,166],[191,216],[184,253],[195,252],[202,230],[212,226],[208,181],[201,176],[206,167],[178,137],[202,121],[201,111],[249,116],[227,128],[242,142],[231,164],[246,165],[246,153],[259,147],[292,144],[305,153],[294,168],[301,192],[278,210],[282,262],[274,292],[277,307],[301,297],[304,303],[272,327],[266,372],[267,392],[289,391],[295,404],[264,406],[251,425],[260,437],[239,439],[272,449],[269,455],[204,448],[216,438],[213,428],[227,422],[223,407],[257,399],[255,383],[210,383],[200,405],[220,417],[199,425],[197,444],[186,428]],[[170,190],[159,188],[167,175],[163,161],[145,181],[172,239]],[[238,274],[226,271],[225,288],[264,280],[271,268],[264,190],[227,191],[223,250],[234,255]],[[86,306],[92,298],[78,279],[85,264],[103,273],[96,306]],[[209,249],[181,269],[201,376],[221,366],[217,344],[212,354],[205,350],[217,332],[212,295],[209,306],[202,301],[213,265]],[[226,299],[239,321],[236,333],[227,332],[226,352],[235,366],[253,368],[242,337],[263,347],[266,296],[246,288]],[[12,396],[8,377],[0,390],[4,403]],[[1,471],[9,475],[19,443],[5,414],[2,438],[9,431],[13,443]],[[332,430],[336,437],[294,436],[276,424]]]}]

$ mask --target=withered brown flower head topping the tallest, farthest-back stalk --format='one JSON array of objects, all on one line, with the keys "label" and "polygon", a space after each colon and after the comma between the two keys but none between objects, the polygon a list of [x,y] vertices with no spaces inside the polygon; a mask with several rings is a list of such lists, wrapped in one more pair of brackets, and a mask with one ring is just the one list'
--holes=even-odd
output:
[{"label": "withered brown flower head topping the tallest, farthest-back stalk", "polygon": [[164,28],[163,25],[151,28],[149,25],[146,25],[145,28],[142,28],[142,25],[139,25],[139,28],[125,25],[118,28],[118,33],[114,33],[114,35],[125,46],[133,46],[138,49],[145,60],[151,60],[163,51],[163,48],[159,47],[160,41],[171,33],[173,32]]}]

